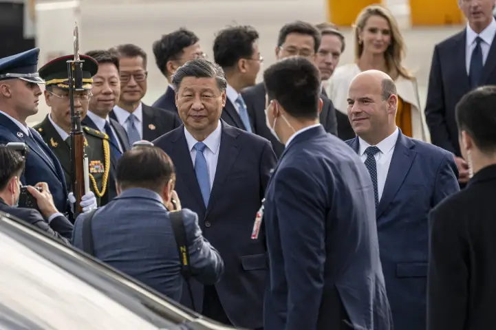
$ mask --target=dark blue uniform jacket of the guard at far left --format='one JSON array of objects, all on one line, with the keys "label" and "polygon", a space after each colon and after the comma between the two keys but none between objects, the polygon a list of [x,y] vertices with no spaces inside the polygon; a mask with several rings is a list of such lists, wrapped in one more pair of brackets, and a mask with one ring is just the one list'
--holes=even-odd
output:
[{"label": "dark blue uniform jacket of the guard at far left", "polygon": [[21,176],[21,182],[28,186],[34,186],[39,182],[46,182],[54,197],[54,204],[57,210],[68,212],[69,202],[67,201],[67,188],[62,166],[39,133],[31,128],[29,130],[30,137],[27,137],[17,124],[0,113],[0,144],[22,142],[28,144],[30,147],[30,153],[26,157],[26,166]]}]

